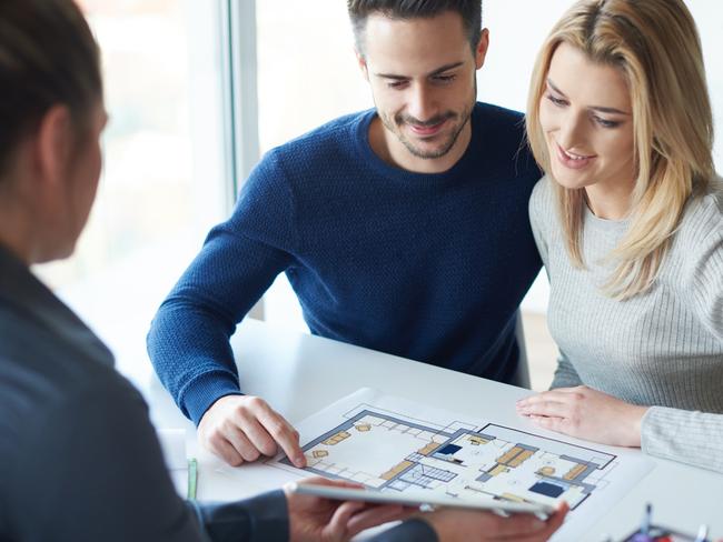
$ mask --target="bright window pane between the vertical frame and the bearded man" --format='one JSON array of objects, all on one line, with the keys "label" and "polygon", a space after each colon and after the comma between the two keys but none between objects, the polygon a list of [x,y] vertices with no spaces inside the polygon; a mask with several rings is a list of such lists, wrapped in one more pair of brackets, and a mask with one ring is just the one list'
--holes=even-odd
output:
[{"label": "bright window pane between the vertical frame and the bearded man", "polygon": [[[346,2],[256,2],[261,153],[374,106],[354,53]],[[266,321],[308,331],[286,275],[264,297]]]}]

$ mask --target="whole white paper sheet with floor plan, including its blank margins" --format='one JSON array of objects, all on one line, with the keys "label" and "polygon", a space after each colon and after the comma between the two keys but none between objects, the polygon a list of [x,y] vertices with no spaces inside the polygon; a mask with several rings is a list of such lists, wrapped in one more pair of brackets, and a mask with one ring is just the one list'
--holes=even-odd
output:
[{"label": "whole white paper sheet with floor plan, including its blank margins", "polygon": [[[467,418],[363,389],[298,425],[305,471],[384,492],[564,499],[572,512],[555,540],[575,540],[652,468],[640,453]],[[298,472],[286,458],[270,464]]]}]

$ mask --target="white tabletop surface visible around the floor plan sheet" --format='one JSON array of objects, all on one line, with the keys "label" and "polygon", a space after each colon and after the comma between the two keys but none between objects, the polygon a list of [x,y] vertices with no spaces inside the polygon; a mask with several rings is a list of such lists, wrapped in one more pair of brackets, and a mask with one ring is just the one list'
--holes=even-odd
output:
[{"label": "white tabletop surface visible around the floor plan sheet", "polygon": [[[291,423],[370,387],[497,423],[524,426],[515,401],[528,390],[339,343],[247,319],[231,340],[241,391],[266,399]],[[186,428],[189,452],[199,459],[198,498],[231,500],[273,489],[278,482],[254,465],[231,470],[196,443],[194,425],[153,380],[143,390],[157,428]],[[534,426],[529,424],[529,429]],[[695,533],[701,523],[723,536],[723,474],[655,459],[655,469],[596,524],[585,540],[621,540],[640,525],[645,503],[654,520]]]}]

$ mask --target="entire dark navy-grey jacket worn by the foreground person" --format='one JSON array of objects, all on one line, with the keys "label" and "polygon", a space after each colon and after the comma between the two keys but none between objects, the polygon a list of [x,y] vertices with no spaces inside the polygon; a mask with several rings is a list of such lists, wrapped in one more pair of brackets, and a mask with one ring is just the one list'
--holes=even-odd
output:
[{"label": "entire dark navy-grey jacket worn by the foreground person", "polygon": [[[0,247],[0,541],[283,541],[280,491],[184,502],[102,342]],[[422,521],[377,540],[435,540]]]}]

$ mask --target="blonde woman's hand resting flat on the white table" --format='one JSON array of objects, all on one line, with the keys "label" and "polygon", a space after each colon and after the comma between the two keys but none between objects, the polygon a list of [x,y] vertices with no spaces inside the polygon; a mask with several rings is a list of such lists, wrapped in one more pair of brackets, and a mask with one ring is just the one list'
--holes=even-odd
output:
[{"label": "blonde woman's hand resting flat on the white table", "polygon": [[621,401],[578,385],[545,391],[517,401],[517,413],[537,425],[616,446],[641,445],[641,421],[647,406]]}]

